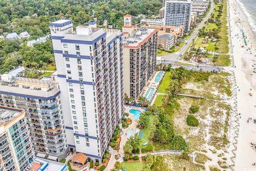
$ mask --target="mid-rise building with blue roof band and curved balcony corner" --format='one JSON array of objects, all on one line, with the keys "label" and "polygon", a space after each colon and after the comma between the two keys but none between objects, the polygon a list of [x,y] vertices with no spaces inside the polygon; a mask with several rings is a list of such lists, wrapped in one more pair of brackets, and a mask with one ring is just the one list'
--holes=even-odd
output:
[{"label": "mid-rise building with blue roof band and curved balcony corner", "polygon": [[68,151],[60,90],[54,82],[1,75],[0,105],[25,110],[36,155],[66,157]]}]

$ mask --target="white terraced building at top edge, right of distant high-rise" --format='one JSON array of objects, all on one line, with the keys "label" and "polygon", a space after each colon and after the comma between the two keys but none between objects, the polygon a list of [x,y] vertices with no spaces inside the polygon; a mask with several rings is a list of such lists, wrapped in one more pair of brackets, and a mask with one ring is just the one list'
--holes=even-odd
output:
[{"label": "white terraced building at top edge, right of distant high-rise", "polygon": [[210,1],[208,0],[192,0],[192,10],[191,12],[196,15],[204,15],[208,6],[210,5]]}]

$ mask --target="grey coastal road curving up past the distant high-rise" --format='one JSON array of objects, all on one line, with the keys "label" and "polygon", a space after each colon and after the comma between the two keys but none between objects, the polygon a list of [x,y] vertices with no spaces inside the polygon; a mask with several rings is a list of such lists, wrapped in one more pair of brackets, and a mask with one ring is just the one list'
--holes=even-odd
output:
[{"label": "grey coastal road curving up past the distant high-rise", "polygon": [[[197,36],[197,33],[198,33],[199,29],[201,29],[204,26],[205,21],[207,21],[210,18],[211,14],[213,12],[213,9],[214,9],[214,3],[213,3],[213,0],[212,0],[211,1],[210,12],[205,16],[203,21],[198,25],[196,30],[192,33],[192,35],[187,40],[186,44],[184,46],[182,46],[178,52],[175,52],[175,53],[170,54],[170,55],[162,56],[162,60],[164,60],[164,59],[166,60],[165,62],[162,62],[162,63],[173,63],[173,62],[175,62],[175,61],[177,62],[179,60],[178,56],[180,54],[183,54],[183,53],[186,52],[186,50],[190,46],[191,42],[193,42],[193,39]],[[168,62],[168,61],[170,61],[170,62]]]}]

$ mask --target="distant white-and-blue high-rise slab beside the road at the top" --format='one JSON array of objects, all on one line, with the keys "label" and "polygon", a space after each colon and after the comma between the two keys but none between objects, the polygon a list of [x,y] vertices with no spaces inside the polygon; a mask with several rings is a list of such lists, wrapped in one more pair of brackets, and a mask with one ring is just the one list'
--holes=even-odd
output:
[{"label": "distant white-and-blue high-rise slab beside the road at the top", "polygon": [[164,12],[164,25],[180,26],[190,29],[191,0],[166,1]]}]

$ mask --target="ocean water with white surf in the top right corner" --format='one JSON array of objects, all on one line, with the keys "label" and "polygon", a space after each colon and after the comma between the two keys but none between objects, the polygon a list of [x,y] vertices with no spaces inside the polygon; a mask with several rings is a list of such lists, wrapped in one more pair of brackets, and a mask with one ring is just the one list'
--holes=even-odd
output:
[{"label": "ocean water with white surf in the top right corner", "polygon": [[236,0],[245,13],[252,30],[256,33],[256,0]]}]

